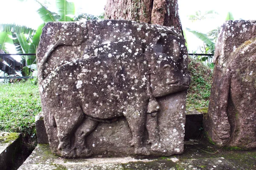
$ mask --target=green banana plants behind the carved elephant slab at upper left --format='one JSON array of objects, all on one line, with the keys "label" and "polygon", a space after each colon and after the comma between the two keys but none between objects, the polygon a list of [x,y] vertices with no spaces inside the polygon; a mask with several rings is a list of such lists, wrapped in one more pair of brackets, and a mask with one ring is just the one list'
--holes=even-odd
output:
[{"label": "green banana plants behind the carved elephant slab at upper left", "polygon": [[[25,0],[20,0],[25,1]],[[81,19],[87,20],[101,20],[104,14],[94,16],[90,14],[79,14],[75,17],[75,4],[68,2],[67,0],[55,0],[56,12],[49,11],[47,6],[35,0],[41,7],[37,10],[37,13],[44,21],[37,30],[28,28],[26,26],[18,26],[15,24],[0,24],[0,49],[8,53],[8,44],[15,45],[17,53],[27,54],[36,53],[37,46],[39,44],[42,28],[48,22],[54,21],[78,21]],[[35,55],[22,56],[26,62],[26,67],[23,68],[23,72],[27,73],[28,70],[35,68],[36,57]],[[7,63],[7,65],[9,65]]]}]

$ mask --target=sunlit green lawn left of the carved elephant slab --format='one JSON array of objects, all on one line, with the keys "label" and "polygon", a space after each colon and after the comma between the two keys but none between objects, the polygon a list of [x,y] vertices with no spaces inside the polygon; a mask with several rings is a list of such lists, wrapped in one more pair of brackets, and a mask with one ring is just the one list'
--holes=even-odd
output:
[{"label": "sunlit green lawn left of the carved elephant slab", "polygon": [[0,84],[0,130],[35,133],[35,115],[41,111],[35,80]]}]

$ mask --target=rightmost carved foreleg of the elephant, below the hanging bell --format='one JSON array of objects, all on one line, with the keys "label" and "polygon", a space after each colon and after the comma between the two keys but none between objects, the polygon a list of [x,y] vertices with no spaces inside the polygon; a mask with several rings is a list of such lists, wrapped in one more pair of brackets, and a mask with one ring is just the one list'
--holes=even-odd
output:
[{"label": "rightmost carved foreleg of the elephant, below the hanging bell", "polygon": [[157,152],[165,153],[167,150],[159,141],[157,128],[157,112],[147,113],[146,129],[148,131],[148,144],[151,144],[151,149]]}]

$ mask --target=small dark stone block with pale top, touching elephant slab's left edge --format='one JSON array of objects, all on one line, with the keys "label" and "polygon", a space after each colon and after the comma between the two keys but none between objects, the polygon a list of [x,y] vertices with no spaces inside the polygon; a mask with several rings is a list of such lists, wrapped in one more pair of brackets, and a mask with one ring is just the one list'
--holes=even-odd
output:
[{"label": "small dark stone block with pale top, touching elephant slab's left edge", "polygon": [[44,126],[44,116],[42,112],[38,113],[38,115],[35,116],[35,128],[36,128],[36,136],[38,139],[38,143],[47,144],[48,136]]}]

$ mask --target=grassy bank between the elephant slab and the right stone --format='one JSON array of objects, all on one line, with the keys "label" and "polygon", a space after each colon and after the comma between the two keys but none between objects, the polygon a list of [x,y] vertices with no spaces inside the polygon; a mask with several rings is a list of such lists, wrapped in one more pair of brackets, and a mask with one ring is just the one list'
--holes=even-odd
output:
[{"label": "grassy bank between the elephant slab and the right stone", "polygon": [[188,90],[186,108],[207,108],[212,84],[212,70],[201,62],[190,59],[191,84]]}]

